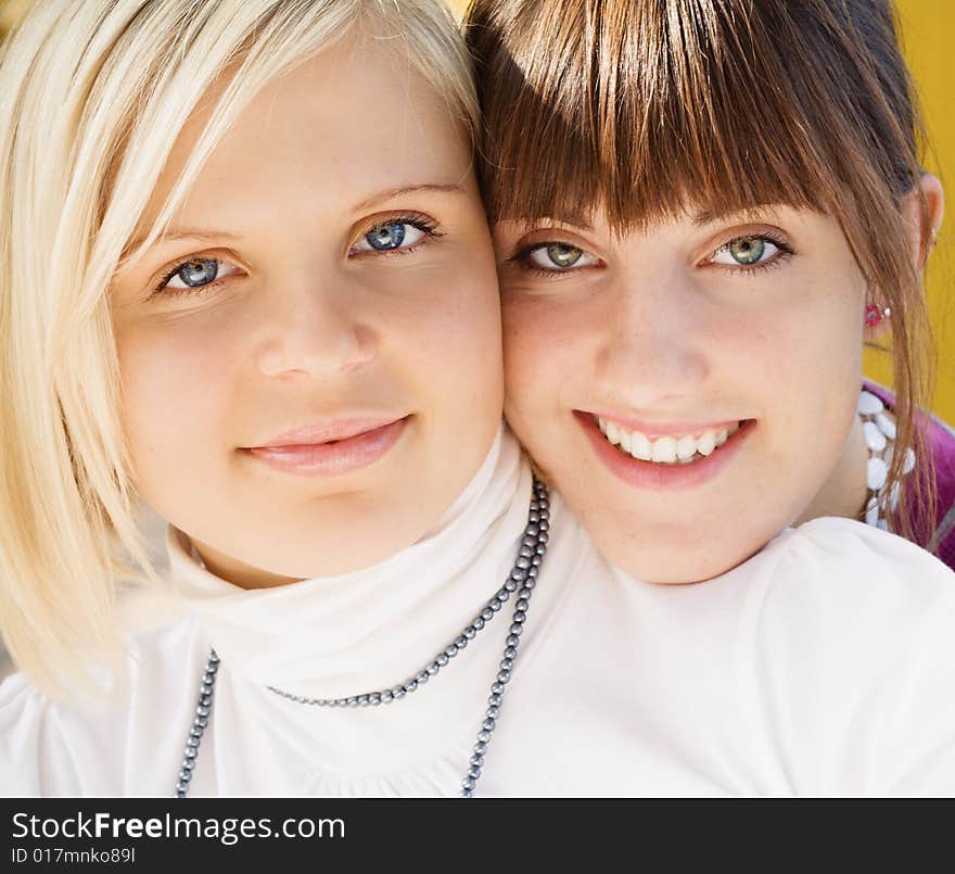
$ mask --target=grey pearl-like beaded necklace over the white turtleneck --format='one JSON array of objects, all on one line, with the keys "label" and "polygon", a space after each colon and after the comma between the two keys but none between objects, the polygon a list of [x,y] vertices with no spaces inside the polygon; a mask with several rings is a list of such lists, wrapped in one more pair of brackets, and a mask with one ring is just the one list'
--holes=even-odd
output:
[{"label": "grey pearl-like beaded necklace over the white turtleneck", "polygon": [[[544,556],[547,554],[548,532],[550,530],[550,498],[547,486],[540,482],[536,476],[534,477],[534,485],[531,493],[531,507],[527,512],[527,524],[524,527],[524,533],[521,536],[521,546],[518,550],[518,557],[514,560],[514,567],[510,572],[505,584],[497,591],[493,598],[487,601],[484,609],[481,610],[471,622],[464,626],[460,635],[445,649],[438,653],[434,659],[424,666],[419,673],[409,677],[404,683],[399,683],[387,689],[378,692],[369,692],[362,695],[351,695],[344,698],[306,698],[293,695],[289,692],[267,686],[269,692],[279,695],[295,704],[308,705],[313,707],[378,707],[383,704],[394,704],[403,700],[405,697],[423,686],[432,676],[435,676],[442,668],[460,653],[470,641],[473,641],[478,633],[494,619],[495,615],[504,606],[504,603],[510,598],[512,592],[517,592],[517,603],[514,604],[514,612],[511,617],[511,626],[508,632],[507,642],[504,649],[504,658],[498,666],[498,673],[494,683],[491,684],[491,697],[487,699],[487,710],[484,713],[484,721],[481,723],[481,731],[478,732],[478,740],[474,743],[471,759],[469,760],[468,773],[461,782],[460,796],[470,798],[474,794],[474,786],[481,776],[481,769],[484,764],[484,753],[487,751],[487,745],[497,725],[497,718],[500,713],[501,700],[507,683],[511,679],[514,668],[514,659],[518,657],[518,646],[521,643],[521,633],[524,630],[524,622],[527,619],[527,607],[531,600],[533,590],[537,584],[537,575],[540,572],[540,566],[544,563]],[[215,649],[209,650],[208,660],[202,674],[202,681],[199,689],[199,702],[195,708],[195,718],[192,721],[192,727],[189,731],[189,738],[186,740],[186,752],[182,758],[182,765],[179,770],[179,777],[176,783],[176,797],[186,798],[189,795],[189,786],[192,782],[192,774],[195,771],[195,762],[199,757],[199,747],[202,743],[202,736],[208,725],[209,714],[213,706],[213,692],[216,685],[216,674],[219,670],[219,657]]]}]

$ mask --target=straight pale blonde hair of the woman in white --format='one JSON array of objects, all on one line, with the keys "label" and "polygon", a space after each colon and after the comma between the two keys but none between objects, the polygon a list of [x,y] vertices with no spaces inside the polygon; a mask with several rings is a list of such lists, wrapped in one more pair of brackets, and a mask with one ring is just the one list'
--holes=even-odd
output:
[{"label": "straight pale blonde hair of the woman in white", "polygon": [[103,663],[116,675],[116,582],[156,582],[107,290],[141,251],[125,250],[158,174],[230,75],[142,249],[252,97],[355,26],[403,53],[473,135],[468,54],[437,0],[44,0],[0,50],[0,629],[48,692],[94,687]]}]

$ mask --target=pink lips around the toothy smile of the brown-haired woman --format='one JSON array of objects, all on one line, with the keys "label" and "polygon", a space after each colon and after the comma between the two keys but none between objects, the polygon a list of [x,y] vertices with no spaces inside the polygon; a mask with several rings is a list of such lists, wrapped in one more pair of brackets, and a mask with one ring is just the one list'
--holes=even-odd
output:
[{"label": "pink lips around the toothy smile of the brown-haired woman", "polygon": [[[722,445],[713,449],[710,455],[705,457],[697,456],[688,464],[664,464],[634,458],[623,449],[611,445],[607,436],[601,432],[597,417],[594,414],[574,410],[574,418],[576,418],[590,441],[597,458],[611,473],[637,489],[661,492],[695,489],[714,479],[733,460],[755,427],[755,420],[753,419],[740,420],[736,430],[726,438]],[[655,434],[676,433],[682,430],[690,429],[671,426],[667,426],[666,429],[648,429],[648,431],[653,431]]]}]

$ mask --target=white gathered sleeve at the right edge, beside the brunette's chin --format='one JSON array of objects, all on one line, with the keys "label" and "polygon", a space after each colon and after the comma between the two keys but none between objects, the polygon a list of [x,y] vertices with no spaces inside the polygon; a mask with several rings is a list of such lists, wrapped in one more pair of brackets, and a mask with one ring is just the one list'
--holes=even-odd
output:
[{"label": "white gathered sleeve at the right edge, beside the brunette's chin", "polygon": [[763,705],[795,793],[955,794],[955,573],[845,519],[767,550]]}]

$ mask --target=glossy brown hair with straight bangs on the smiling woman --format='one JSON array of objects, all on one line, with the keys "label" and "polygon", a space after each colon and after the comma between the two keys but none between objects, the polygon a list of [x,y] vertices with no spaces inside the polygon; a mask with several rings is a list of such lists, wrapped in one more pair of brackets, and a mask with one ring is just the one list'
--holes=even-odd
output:
[{"label": "glossy brown hair with straight bangs on the smiling woman", "polygon": [[[892,311],[890,482],[906,447],[928,458],[931,334],[899,208],[924,137],[887,0],[472,0],[466,37],[493,221],[583,224],[599,206],[624,232],[687,208],[832,215]],[[919,469],[921,499],[903,491],[889,517],[925,543],[934,489]]]}]

